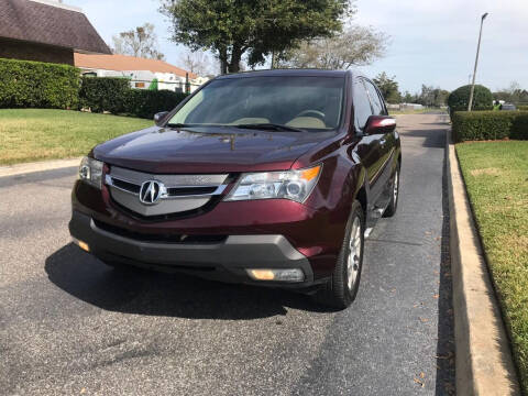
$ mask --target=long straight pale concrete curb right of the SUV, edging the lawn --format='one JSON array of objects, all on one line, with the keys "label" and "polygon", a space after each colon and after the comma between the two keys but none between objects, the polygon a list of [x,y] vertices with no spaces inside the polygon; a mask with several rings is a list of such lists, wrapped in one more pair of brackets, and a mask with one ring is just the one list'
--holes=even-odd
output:
[{"label": "long straight pale concrete curb right of the SUV, edging the lawn", "polygon": [[490,279],[459,162],[447,132],[458,395],[520,395],[509,340]]}]

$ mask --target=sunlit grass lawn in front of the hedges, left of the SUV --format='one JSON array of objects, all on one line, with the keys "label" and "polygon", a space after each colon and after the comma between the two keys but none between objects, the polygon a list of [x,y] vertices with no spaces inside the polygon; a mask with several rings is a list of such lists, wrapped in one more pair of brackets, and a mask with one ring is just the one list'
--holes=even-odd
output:
[{"label": "sunlit grass lawn in front of the hedges, left of the SUV", "polygon": [[68,110],[0,110],[0,165],[68,158],[153,121]]}]

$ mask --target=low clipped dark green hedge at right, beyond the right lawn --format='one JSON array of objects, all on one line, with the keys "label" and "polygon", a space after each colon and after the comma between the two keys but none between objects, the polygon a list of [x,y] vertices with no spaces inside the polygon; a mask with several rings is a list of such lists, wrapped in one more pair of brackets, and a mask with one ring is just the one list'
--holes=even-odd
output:
[{"label": "low clipped dark green hedge at right, beyond the right lawn", "polygon": [[452,122],[455,142],[528,140],[528,111],[457,111]]}]

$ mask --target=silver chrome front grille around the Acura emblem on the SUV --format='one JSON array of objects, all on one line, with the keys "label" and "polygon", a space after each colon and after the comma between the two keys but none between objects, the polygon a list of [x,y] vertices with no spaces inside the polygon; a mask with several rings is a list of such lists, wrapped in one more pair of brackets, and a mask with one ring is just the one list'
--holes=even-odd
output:
[{"label": "silver chrome front grille around the Acura emblem on the SUV", "polygon": [[[212,197],[227,188],[224,175],[154,175],[120,167],[111,167],[105,184],[113,200],[141,216],[162,216],[186,212],[207,205]],[[144,183],[155,180],[160,185],[156,201],[142,202]]]}]

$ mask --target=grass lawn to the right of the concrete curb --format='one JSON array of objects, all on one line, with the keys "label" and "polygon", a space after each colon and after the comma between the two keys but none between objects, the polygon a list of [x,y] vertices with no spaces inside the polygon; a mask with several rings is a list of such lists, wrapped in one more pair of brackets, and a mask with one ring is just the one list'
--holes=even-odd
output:
[{"label": "grass lawn to the right of the concrete curb", "polygon": [[528,394],[528,141],[462,143],[457,154]]}]

